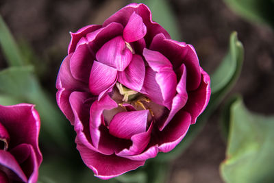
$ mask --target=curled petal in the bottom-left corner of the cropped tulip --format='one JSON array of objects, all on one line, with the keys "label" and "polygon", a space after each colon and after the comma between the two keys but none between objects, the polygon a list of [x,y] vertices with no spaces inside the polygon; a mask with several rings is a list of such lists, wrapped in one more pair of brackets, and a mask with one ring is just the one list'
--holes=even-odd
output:
[{"label": "curled petal in the bottom-left corner of the cropped tulip", "polygon": [[27,182],[25,173],[23,173],[16,159],[8,151],[0,150],[0,169],[11,180]]}]

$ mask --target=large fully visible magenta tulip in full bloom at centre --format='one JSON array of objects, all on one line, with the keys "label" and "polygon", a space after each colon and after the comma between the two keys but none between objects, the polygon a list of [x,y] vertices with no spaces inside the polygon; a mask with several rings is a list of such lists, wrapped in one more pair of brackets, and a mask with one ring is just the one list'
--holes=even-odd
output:
[{"label": "large fully visible magenta tulip in full bloom at centre", "polygon": [[208,104],[210,77],[192,45],[132,3],[71,33],[56,88],[84,163],[109,179],[182,141]]}]

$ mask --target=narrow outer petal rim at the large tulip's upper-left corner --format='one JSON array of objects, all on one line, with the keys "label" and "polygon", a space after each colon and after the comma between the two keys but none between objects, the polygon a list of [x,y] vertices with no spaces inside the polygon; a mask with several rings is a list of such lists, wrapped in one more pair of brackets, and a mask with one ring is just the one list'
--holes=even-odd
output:
[{"label": "narrow outer petal rim at the large tulip's upper-left corner", "polygon": [[75,51],[77,42],[89,32],[94,32],[95,30],[101,28],[101,25],[87,25],[86,27],[82,27],[77,32],[71,32],[71,42],[69,43],[68,55]]}]

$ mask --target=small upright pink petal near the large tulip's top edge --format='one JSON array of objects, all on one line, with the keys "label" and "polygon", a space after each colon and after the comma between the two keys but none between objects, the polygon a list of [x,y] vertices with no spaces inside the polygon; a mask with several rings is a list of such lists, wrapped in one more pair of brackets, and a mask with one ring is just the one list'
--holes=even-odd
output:
[{"label": "small upright pink petal near the large tulip's top edge", "polygon": [[147,27],[142,22],[142,17],[133,12],[125,26],[123,38],[127,42],[134,42],[143,38],[145,34],[147,34]]}]

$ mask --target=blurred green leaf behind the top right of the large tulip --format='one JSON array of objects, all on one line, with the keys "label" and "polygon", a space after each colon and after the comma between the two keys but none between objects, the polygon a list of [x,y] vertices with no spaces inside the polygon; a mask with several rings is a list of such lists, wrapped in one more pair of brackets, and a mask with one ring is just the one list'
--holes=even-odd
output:
[{"label": "blurred green leaf behind the top right of the large tulip", "polygon": [[144,3],[149,7],[152,13],[153,21],[159,23],[171,35],[171,38],[181,41],[182,34],[179,32],[179,26],[176,16],[169,1],[166,0],[136,0],[135,3]]}]

